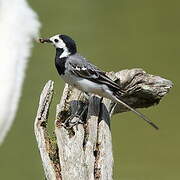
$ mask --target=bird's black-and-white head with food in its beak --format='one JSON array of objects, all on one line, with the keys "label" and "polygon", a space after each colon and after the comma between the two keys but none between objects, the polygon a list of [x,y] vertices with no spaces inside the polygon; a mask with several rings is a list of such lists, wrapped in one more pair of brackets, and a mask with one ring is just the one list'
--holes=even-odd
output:
[{"label": "bird's black-and-white head with food in its beak", "polygon": [[77,52],[75,41],[67,35],[58,34],[50,38],[40,38],[40,43],[51,43],[57,51],[61,51],[60,58],[68,57]]}]

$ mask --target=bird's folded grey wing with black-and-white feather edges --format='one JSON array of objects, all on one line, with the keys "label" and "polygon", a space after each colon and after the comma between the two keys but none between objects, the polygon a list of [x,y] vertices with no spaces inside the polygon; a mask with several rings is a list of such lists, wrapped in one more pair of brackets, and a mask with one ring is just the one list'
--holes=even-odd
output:
[{"label": "bird's folded grey wing with black-and-white feather edges", "polygon": [[68,60],[68,69],[75,76],[82,77],[98,84],[106,84],[110,89],[121,91],[120,86],[111,80],[105,72],[88,62],[82,56],[72,56]]}]

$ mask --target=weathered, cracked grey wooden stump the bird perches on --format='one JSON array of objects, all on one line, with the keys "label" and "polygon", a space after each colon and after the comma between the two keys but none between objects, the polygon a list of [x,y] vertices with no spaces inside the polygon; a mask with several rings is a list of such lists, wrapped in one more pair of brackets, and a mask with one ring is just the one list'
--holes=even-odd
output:
[{"label": "weathered, cracked grey wooden stump the bird perches on", "polygon": [[[158,104],[169,92],[172,82],[146,73],[142,69],[107,73],[126,91],[123,101],[133,108]],[[111,100],[84,93],[65,85],[55,118],[55,137],[47,131],[48,110],[53,96],[53,81],[45,85],[39,102],[34,131],[46,179],[111,180],[113,171],[110,119],[113,114],[128,111]],[[72,128],[63,122],[74,112],[88,106],[84,124]],[[74,117],[73,121],[78,120]],[[151,128],[151,127],[150,127]]]}]

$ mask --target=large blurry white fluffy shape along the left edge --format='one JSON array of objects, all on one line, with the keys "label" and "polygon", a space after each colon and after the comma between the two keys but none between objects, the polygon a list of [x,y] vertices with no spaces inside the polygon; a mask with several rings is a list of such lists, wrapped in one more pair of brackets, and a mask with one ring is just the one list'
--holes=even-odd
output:
[{"label": "large blurry white fluffy shape along the left edge", "polygon": [[26,0],[0,0],[0,143],[15,118],[40,23]]}]

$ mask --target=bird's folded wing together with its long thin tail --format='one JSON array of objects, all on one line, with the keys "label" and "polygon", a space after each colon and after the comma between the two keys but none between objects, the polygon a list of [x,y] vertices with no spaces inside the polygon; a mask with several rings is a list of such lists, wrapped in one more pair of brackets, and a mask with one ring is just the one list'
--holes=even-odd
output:
[{"label": "bird's folded wing together with its long thin tail", "polygon": [[113,94],[116,97],[116,101],[124,105],[126,108],[140,116],[142,119],[144,119],[147,123],[149,123],[151,126],[153,126],[155,129],[158,129],[158,127],[146,116],[144,116],[141,112],[135,110],[134,108],[130,107],[128,104],[126,104],[124,101],[121,100],[121,93],[122,90],[120,86],[112,81],[108,76],[106,76],[105,72],[98,69],[96,66],[88,62],[86,59],[84,59],[80,55],[74,55],[71,56],[67,61],[67,68],[68,71],[70,71],[74,76],[88,79],[92,82],[95,82],[97,84],[105,84],[113,91]]}]

